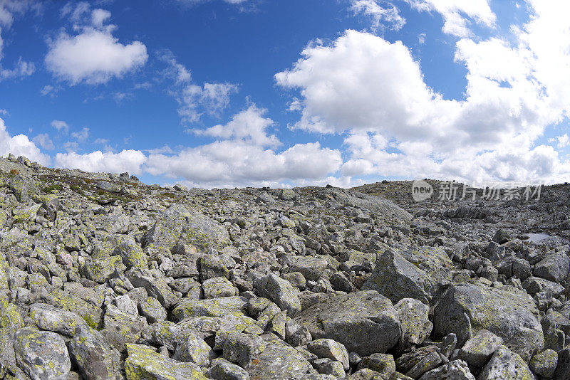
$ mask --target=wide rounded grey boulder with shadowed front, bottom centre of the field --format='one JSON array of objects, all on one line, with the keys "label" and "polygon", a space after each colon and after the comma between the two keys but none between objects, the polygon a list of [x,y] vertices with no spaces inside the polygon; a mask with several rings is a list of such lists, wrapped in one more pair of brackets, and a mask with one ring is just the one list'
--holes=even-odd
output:
[{"label": "wide rounded grey boulder with shadowed front, bottom centre of the field", "polygon": [[334,339],[361,356],[386,352],[400,338],[398,312],[374,290],[332,297],[294,320],[309,328],[313,339]]}]

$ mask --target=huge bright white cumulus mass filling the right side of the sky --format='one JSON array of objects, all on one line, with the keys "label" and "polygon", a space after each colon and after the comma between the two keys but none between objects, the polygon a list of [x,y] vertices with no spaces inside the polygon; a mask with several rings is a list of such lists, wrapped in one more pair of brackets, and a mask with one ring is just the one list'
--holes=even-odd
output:
[{"label": "huge bright white cumulus mass filling the right side of the sky", "polygon": [[[276,82],[299,90],[291,103],[301,112],[297,128],[348,132],[343,176],[563,181],[570,163],[536,144],[570,115],[570,30],[562,16],[570,4],[553,3],[530,1],[529,22],[509,40],[457,41],[455,61],[467,69],[463,99],[428,87],[402,43],[358,31],[311,43]],[[494,22],[488,12],[461,12]]]}]

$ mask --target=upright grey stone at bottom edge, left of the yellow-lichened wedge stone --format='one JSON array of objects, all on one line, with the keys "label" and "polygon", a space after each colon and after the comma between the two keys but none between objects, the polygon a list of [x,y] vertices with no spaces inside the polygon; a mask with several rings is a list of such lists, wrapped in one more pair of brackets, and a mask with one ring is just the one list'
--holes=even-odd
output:
[{"label": "upright grey stone at bottom edge, left of the yellow-lichened wedge stone", "polygon": [[78,327],[69,342],[69,355],[83,379],[115,379],[113,351],[100,332],[88,326]]}]

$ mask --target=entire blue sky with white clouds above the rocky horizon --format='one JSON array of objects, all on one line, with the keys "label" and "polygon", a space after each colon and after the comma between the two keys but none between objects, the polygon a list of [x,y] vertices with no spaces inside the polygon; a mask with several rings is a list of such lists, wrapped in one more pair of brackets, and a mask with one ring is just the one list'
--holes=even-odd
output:
[{"label": "entire blue sky with white clouds above the rocky horizon", "polygon": [[569,10],[0,0],[0,154],[201,187],[566,181]]}]

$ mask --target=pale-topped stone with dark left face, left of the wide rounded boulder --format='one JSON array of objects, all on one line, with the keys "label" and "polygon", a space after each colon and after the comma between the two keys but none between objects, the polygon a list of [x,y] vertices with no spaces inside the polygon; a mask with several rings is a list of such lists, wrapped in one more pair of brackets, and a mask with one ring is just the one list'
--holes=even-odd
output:
[{"label": "pale-topped stone with dark left face, left of the wide rounded boulder", "polygon": [[289,317],[301,312],[301,301],[289,281],[271,274],[260,278],[255,285],[261,297],[275,302],[281,310],[287,311]]}]

